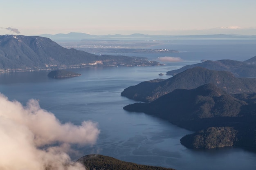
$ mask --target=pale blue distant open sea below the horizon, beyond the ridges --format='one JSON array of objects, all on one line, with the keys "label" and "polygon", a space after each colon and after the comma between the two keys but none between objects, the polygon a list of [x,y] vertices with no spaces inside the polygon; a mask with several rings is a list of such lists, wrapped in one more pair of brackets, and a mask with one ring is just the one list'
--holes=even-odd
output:
[{"label": "pale blue distant open sea below the horizon, beyond the ridges", "polygon": [[[158,57],[171,56],[180,57],[183,60],[238,60],[245,61],[251,57],[256,56],[256,39],[180,39],[172,38],[170,40],[147,40],[147,41],[133,41],[132,48],[144,49],[172,49],[178,50],[179,53],[157,53],[157,54],[134,54],[134,53],[108,53],[110,55],[128,55],[128,56],[142,56],[157,60]],[[93,42],[97,44],[97,42]],[[110,42],[111,43],[111,42]],[[68,43],[62,43],[68,46]],[[126,42],[127,45],[128,43]],[[130,45],[129,44],[129,45]],[[73,48],[79,45],[83,46],[81,42],[72,44]],[[100,45],[100,44],[97,44]],[[107,44],[105,44],[107,45]],[[119,46],[122,46],[121,42]],[[130,45],[131,46],[131,45]],[[69,46],[70,47],[70,46]],[[126,48],[128,48],[126,46]],[[90,51],[88,51],[90,52]],[[100,55],[101,52],[95,53]]]}]

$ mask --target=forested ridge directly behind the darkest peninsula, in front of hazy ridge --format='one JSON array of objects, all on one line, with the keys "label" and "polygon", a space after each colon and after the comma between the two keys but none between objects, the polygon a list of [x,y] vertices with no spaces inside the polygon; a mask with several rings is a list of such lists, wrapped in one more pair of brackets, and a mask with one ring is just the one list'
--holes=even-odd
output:
[{"label": "forested ridge directly behind the darkest peninsula, in front of hazy ridge", "polygon": [[256,92],[256,79],[235,77],[227,71],[193,67],[168,79],[154,79],[130,86],[121,95],[137,101],[152,102],[177,88],[193,89],[208,83],[230,94]]}]

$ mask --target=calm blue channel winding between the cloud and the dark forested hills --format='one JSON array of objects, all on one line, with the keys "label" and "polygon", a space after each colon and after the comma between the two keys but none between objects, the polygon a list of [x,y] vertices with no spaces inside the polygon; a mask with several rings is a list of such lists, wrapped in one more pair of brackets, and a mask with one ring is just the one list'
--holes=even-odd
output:
[{"label": "calm blue channel winding between the cloud and the dark forested hills", "polygon": [[158,74],[196,62],[75,69],[72,71],[82,75],[68,79],[50,79],[47,71],[5,73],[0,74],[0,92],[22,104],[31,98],[40,99],[41,108],[54,113],[61,122],[98,122],[101,134],[97,144],[76,146],[80,153],[73,159],[97,153],[177,170],[255,170],[255,152],[240,148],[190,150],[180,144],[180,138],[190,131],[144,113],[123,110],[134,103],[120,96],[124,88],[144,80],[168,78]]}]

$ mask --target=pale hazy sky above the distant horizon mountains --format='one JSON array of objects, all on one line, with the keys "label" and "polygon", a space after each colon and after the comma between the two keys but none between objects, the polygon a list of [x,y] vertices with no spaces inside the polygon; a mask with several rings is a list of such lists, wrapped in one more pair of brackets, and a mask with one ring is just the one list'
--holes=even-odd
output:
[{"label": "pale hazy sky above the distant horizon mountains", "polygon": [[256,0],[0,0],[0,35],[256,35]]}]

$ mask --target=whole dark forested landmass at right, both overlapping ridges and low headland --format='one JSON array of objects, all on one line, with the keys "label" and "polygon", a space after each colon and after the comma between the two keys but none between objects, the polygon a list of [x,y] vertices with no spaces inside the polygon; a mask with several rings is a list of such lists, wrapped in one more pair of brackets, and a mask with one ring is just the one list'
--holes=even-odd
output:
[{"label": "whole dark forested landmass at right, both overlapping ridges and low headland", "polygon": [[182,137],[188,148],[256,148],[256,79],[194,67],[169,79],[126,88],[121,95],[146,103],[125,106],[196,131]]}]

